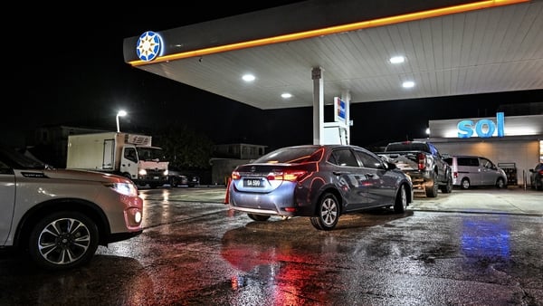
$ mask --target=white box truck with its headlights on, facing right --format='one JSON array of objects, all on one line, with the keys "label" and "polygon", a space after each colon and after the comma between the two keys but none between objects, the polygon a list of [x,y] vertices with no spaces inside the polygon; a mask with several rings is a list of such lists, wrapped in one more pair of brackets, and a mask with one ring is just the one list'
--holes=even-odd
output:
[{"label": "white box truck with its headlights on, facing right", "polygon": [[168,162],[147,135],[100,132],[68,136],[66,167],[129,177],[138,186],[167,184]]}]

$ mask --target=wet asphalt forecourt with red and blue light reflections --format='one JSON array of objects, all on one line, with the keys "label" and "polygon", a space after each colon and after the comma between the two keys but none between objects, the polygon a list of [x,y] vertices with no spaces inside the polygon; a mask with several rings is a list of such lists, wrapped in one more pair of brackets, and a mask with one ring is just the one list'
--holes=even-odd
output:
[{"label": "wet asphalt forecourt with red and blue light reflections", "polygon": [[0,254],[0,305],[543,305],[543,192],[415,194],[403,215],[256,223],[224,186],[143,189],[143,234],[90,264]]}]

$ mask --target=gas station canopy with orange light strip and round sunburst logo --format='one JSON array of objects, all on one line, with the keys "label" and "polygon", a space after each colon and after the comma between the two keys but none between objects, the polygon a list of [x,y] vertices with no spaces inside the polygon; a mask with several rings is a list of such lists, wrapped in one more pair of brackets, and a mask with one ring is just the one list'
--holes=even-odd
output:
[{"label": "gas station canopy with orange light strip and round sunburst logo", "polygon": [[123,53],[138,69],[271,110],[314,106],[316,68],[326,104],[346,92],[359,103],[542,89],[541,29],[541,0],[310,0],[149,29]]}]

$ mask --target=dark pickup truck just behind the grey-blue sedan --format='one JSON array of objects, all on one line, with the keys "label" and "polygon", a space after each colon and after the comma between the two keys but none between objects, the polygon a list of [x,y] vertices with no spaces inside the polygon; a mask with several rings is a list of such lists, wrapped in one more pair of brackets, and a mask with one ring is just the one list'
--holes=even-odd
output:
[{"label": "dark pickup truck just behind the grey-blue sedan", "polygon": [[436,197],[439,189],[452,192],[451,167],[431,142],[391,142],[384,152],[375,153],[409,175],[414,191],[424,191],[428,197]]}]

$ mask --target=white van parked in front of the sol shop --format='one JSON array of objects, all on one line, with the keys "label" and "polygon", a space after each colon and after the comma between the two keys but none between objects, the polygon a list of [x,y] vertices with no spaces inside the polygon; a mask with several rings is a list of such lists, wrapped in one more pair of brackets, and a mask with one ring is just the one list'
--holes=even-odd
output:
[{"label": "white van parked in front of the sol shop", "polygon": [[445,158],[452,168],[452,186],[468,189],[471,186],[507,186],[505,171],[489,158],[456,155]]}]

